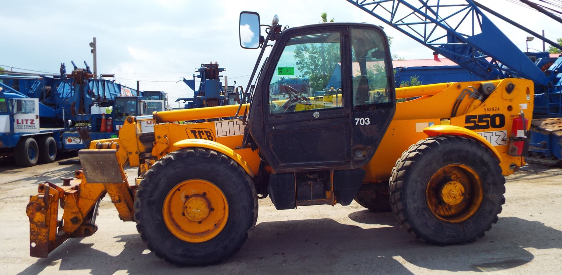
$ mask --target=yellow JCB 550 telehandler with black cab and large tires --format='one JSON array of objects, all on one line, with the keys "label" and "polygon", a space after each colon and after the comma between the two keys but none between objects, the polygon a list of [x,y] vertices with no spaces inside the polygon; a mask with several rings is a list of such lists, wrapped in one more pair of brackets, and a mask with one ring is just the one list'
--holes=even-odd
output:
[{"label": "yellow JCB 550 telehandler with black cab and large tires", "polygon": [[[261,52],[240,105],[129,116],[119,138],[79,152],[75,178],[39,184],[27,207],[31,256],[92,235],[106,194],[157,257],[178,265],[236,253],[268,196],[277,209],[355,199],[437,245],[471,242],[497,222],[504,176],[524,165],[531,81],[395,88],[378,26],[283,29],[274,17],[265,38],[261,26],[241,13],[241,46]],[[138,167],[134,180],[127,165]]]}]

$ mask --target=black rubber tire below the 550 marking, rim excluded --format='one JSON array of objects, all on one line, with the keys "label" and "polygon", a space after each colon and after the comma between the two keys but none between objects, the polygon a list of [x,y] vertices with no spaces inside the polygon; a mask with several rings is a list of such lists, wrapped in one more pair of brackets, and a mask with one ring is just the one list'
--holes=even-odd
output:
[{"label": "black rubber tire below the 550 marking, rim excluded", "polygon": [[[425,190],[431,176],[447,164],[464,164],[479,174],[483,201],[474,216],[460,223],[438,220],[429,210]],[[505,203],[505,178],[490,151],[473,139],[438,136],[423,139],[402,153],[392,169],[390,202],[402,227],[430,244],[464,244],[483,237],[498,221]]]}]

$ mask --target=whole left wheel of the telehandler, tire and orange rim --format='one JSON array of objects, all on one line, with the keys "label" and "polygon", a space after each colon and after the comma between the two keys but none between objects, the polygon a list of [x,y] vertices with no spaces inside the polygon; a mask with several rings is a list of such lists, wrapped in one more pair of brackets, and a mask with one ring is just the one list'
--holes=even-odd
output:
[{"label": "whole left wheel of the telehandler, tire and orange rim", "polygon": [[158,258],[206,265],[242,248],[256,225],[257,195],[234,160],[203,148],[162,157],[147,171],[134,202],[137,230]]}]

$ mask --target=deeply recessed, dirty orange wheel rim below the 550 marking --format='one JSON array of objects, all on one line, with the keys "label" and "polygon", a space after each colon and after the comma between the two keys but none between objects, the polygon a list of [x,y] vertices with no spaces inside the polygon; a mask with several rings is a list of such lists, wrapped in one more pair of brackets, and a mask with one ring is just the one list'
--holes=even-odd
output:
[{"label": "deeply recessed, dirty orange wheel rim below the 550 marking", "polygon": [[482,180],[470,167],[450,164],[429,179],[425,198],[433,216],[447,223],[469,220],[483,199]]}]

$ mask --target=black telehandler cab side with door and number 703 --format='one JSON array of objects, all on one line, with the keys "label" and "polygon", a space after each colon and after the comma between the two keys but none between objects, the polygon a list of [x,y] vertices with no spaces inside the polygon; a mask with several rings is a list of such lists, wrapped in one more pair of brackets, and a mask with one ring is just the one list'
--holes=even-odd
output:
[{"label": "black telehandler cab side with door and number 703", "polygon": [[[356,27],[360,26],[375,36],[362,39],[375,39],[378,44],[362,41],[360,48],[351,37],[356,31],[344,24],[282,32],[249,114],[252,137],[275,173],[352,169],[373,155],[394,113],[394,91],[388,86],[392,82],[387,79],[386,36],[378,27]],[[366,62],[372,58],[365,54],[377,49],[375,56],[383,57],[382,63],[379,60],[382,69],[370,72]],[[380,102],[375,103],[370,90],[374,85],[369,81],[378,78],[386,80],[379,81],[386,83],[380,89],[386,97],[379,96]]]}]

